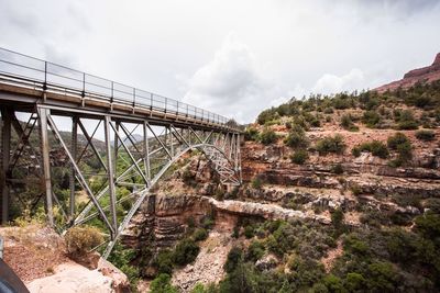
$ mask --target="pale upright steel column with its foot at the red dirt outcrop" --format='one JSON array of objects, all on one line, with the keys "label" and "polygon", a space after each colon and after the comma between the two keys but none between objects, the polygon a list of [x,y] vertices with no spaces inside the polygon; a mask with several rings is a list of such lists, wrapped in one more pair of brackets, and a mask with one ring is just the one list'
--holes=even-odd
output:
[{"label": "pale upright steel column with its foot at the red dirt outcrop", "polygon": [[54,226],[54,214],[52,210],[52,182],[51,182],[51,159],[48,145],[47,116],[51,114],[48,109],[38,108],[40,116],[40,140],[43,157],[43,188],[46,192],[46,213],[50,226]]}]

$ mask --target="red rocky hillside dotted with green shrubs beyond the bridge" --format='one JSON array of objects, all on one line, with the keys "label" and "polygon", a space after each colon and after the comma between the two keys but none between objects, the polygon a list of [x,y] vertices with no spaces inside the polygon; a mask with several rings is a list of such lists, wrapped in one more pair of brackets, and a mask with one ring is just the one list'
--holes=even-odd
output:
[{"label": "red rocky hillside dotted with green shrubs beyond the bridge", "polygon": [[136,215],[141,289],[438,291],[439,126],[439,82],[262,112],[241,188],[190,156]]}]

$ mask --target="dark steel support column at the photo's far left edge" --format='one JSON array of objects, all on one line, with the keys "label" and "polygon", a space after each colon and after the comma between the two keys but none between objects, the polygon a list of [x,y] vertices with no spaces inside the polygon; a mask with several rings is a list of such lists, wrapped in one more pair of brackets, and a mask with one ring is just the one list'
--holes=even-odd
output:
[{"label": "dark steel support column at the photo's far left edge", "polygon": [[7,108],[1,109],[1,120],[3,126],[1,128],[1,170],[0,170],[0,185],[1,185],[1,224],[6,225],[9,221],[9,185],[7,184],[7,176],[10,161],[11,151],[11,119],[13,110]]}]

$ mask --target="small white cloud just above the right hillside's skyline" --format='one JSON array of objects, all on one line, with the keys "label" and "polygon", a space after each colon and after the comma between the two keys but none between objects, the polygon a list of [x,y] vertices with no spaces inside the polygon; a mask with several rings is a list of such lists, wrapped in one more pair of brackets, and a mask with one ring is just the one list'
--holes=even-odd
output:
[{"label": "small white cloud just above the right hillside's skyline", "polygon": [[330,94],[341,91],[362,89],[364,84],[364,74],[358,68],[353,68],[349,74],[340,77],[330,74],[323,75],[320,79],[318,79],[311,91],[315,93]]}]

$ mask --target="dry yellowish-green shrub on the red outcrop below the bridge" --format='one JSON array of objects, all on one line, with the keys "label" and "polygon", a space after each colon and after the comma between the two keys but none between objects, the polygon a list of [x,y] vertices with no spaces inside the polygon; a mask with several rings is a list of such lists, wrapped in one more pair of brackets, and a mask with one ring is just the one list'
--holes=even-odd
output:
[{"label": "dry yellowish-green shrub on the red outcrop below the bridge", "polygon": [[96,227],[72,227],[64,236],[69,255],[85,255],[103,243],[100,230]]}]

